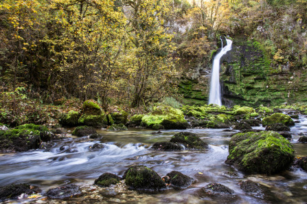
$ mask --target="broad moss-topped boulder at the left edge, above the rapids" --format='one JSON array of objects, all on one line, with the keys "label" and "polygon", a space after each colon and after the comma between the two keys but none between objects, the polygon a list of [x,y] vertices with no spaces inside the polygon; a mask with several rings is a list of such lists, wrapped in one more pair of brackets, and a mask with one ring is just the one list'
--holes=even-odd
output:
[{"label": "broad moss-topped boulder at the left edge, above the rapids", "polygon": [[8,131],[0,131],[0,152],[36,149],[42,141],[50,141],[52,135],[45,126],[35,124],[24,124]]}]

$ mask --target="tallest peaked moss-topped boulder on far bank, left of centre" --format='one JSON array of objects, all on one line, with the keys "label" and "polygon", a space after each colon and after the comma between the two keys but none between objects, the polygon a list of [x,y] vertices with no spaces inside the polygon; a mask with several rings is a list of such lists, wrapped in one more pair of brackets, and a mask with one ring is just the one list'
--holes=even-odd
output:
[{"label": "tallest peaked moss-topped boulder on far bank, left of centre", "polygon": [[97,102],[87,100],[83,103],[82,115],[78,119],[78,124],[102,128],[107,126],[108,120]]}]

